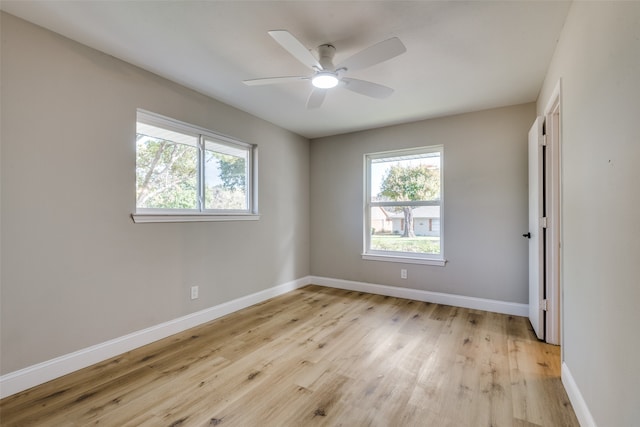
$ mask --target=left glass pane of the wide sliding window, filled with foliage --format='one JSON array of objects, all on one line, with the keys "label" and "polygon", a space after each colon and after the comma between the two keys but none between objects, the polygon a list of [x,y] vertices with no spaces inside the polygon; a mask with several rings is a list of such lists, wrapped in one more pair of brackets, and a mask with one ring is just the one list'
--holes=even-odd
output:
[{"label": "left glass pane of the wide sliding window, filled with foliage", "polygon": [[198,209],[197,143],[197,137],[138,123],[138,208]]}]

